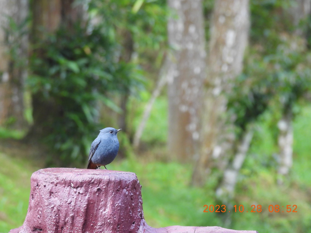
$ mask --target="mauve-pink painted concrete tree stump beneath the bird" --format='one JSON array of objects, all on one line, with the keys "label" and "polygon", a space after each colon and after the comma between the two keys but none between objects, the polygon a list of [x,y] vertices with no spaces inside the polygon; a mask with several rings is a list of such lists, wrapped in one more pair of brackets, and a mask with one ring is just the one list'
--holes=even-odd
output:
[{"label": "mauve-pink painted concrete tree stump beneath the bird", "polygon": [[111,170],[46,168],[31,176],[29,207],[24,224],[12,233],[139,232],[238,233],[221,227],[147,225],[141,185],[135,173]]}]

